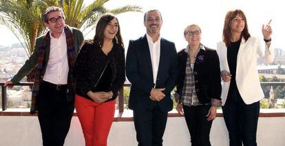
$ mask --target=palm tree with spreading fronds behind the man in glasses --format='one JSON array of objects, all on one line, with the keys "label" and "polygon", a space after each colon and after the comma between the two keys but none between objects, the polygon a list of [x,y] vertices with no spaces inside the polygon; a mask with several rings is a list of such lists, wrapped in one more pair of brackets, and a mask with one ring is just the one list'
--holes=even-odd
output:
[{"label": "palm tree with spreading fronds behind the man in glasses", "polygon": [[34,51],[36,38],[45,33],[43,12],[49,6],[61,6],[65,12],[65,23],[84,31],[93,30],[96,21],[105,12],[121,14],[141,12],[139,6],[123,6],[108,10],[104,4],[109,0],[96,0],[84,6],[84,0],[0,0],[0,24],[6,25],[17,37],[25,52]]}]

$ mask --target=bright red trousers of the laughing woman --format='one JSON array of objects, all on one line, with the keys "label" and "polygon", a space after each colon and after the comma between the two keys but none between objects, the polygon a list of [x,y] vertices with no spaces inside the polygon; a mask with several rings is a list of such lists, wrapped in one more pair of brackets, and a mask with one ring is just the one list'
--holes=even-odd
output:
[{"label": "bright red trousers of the laughing woman", "polygon": [[96,103],[75,96],[77,116],[83,129],[85,146],[107,146],[107,137],[114,120],[116,101]]}]

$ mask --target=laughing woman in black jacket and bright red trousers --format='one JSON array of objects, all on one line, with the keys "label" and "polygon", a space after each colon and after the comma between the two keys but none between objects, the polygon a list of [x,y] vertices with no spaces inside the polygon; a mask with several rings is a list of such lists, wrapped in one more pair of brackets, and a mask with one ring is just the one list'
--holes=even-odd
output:
[{"label": "laughing woman in black jacket and bright red trousers", "polygon": [[125,50],[118,19],[104,14],[75,63],[76,112],[86,146],[107,145],[118,90],[125,82]]}]

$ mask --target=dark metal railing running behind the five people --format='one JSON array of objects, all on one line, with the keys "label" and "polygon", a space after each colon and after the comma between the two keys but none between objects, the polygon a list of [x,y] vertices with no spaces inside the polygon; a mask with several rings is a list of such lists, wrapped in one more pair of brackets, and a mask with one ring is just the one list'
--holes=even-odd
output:
[{"label": "dark metal railing running behind the five people", "polygon": [[[21,82],[21,83],[15,83],[14,85],[21,85],[21,86],[28,86],[28,85],[33,85],[34,83],[32,82]],[[285,85],[285,82],[262,82],[260,83],[263,86],[268,86],[268,85],[273,85],[273,86],[277,86],[277,85]],[[4,82],[0,82],[0,86],[1,86],[1,91],[2,91],[2,112],[7,110],[7,87],[4,87]],[[124,87],[129,87],[130,84],[124,84]],[[124,90],[123,87],[119,90],[119,94],[118,94],[118,110],[119,113],[123,113],[124,112]]]}]

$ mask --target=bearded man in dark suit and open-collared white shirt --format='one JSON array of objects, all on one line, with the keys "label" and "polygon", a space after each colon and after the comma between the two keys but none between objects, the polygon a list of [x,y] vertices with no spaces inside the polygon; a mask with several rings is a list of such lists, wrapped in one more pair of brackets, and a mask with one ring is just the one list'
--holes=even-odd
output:
[{"label": "bearded man in dark suit and open-collared white shirt", "polygon": [[170,96],[178,79],[178,56],[174,43],[160,37],[162,17],[158,10],[145,13],[147,34],[129,41],[126,74],[131,82],[129,108],[139,146],[162,145]]}]

